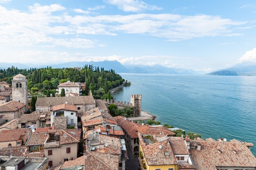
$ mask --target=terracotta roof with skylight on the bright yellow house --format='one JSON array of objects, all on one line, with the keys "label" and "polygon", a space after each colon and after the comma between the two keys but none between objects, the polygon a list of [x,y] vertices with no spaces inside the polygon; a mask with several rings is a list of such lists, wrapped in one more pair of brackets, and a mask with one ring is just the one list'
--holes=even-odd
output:
[{"label": "terracotta roof with skylight on the bright yellow house", "polygon": [[[152,165],[177,165],[172,147],[168,144],[168,140],[162,142],[156,142],[144,146],[144,141],[139,136],[139,141],[146,157],[146,161],[149,166]],[[159,147],[161,145],[161,147]],[[169,155],[165,155],[164,152],[168,152]]]}]

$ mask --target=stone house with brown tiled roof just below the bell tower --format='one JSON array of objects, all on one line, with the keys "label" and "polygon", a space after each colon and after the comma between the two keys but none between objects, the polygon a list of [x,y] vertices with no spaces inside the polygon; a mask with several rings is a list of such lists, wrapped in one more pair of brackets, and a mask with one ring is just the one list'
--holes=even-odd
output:
[{"label": "stone house with brown tiled roof just below the bell tower", "polygon": [[9,121],[20,117],[26,110],[26,104],[15,101],[0,104],[0,114],[4,115],[3,119]]}]

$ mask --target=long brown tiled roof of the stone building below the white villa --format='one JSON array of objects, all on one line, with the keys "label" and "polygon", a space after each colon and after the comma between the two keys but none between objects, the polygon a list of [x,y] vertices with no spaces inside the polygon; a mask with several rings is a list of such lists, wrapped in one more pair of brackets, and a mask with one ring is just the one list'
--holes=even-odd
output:
[{"label": "long brown tiled roof of the stone building below the white villa", "polygon": [[69,96],[69,97],[39,97],[36,106],[56,106],[61,104],[95,104],[92,96]]}]

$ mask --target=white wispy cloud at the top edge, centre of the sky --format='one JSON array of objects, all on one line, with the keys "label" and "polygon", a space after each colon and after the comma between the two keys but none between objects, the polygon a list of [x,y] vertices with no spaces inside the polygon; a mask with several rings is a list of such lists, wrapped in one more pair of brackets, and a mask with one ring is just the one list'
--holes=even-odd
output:
[{"label": "white wispy cloud at the top edge, centre of the sky", "polygon": [[108,3],[116,5],[118,9],[126,12],[138,12],[142,10],[159,10],[155,5],[149,5],[141,0],[107,0]]}]

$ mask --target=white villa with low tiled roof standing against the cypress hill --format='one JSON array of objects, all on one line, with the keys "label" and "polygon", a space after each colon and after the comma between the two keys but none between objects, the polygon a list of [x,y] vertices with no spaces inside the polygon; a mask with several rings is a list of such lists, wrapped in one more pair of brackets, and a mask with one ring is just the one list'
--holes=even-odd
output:
[{"label": "white villa with low tiled roof standing against the cypress hill", "polygon": [[65,90],[65,94],[67,93],[77,93],[79,95],[82,95],[82,88],[79,85],[79,83],[74,83],[74,82],[70,82],[67,81],[65,83],[61,83],[60,85],[57,86],[58,87],[58,94],[61,94],[61,90],[64,89]]}]

